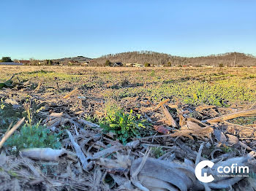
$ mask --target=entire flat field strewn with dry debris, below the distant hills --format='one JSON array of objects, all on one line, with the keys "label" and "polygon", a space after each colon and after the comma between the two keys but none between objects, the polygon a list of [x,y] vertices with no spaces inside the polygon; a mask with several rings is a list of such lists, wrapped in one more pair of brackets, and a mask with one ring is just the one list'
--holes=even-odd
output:
[{"label": "entire flat field strewn with dry debris, below the distant hills", "polygon": [[[0,66],[0,79],[0,138],[26,119],[0,155],[7,161],[1,165],[0,160],[0,185],[10,190],[134,190],[143,189],[141,184],[159,190],[143,179],[148,178],[143,168],[135,182],[143,157],[150,157],[148,168],[156,169],[156,158],[182,164],[186,159],[192,169],[200,160],[238,161],[250,166],[248,176],[219,178],[209,187],[256,184],[255,160],[244,160],[256,150],[255,68]],[[23,150],[31,148],[65,155],[45,162],[44,150],[39,156]],[[16,156],[15,165],[7,156]],[[190,179],[190,167],[180,168],[179,183],[157,172],[151,178],[173,189],[206,189]],[[176,171],[170,173],[176,176]]]}]

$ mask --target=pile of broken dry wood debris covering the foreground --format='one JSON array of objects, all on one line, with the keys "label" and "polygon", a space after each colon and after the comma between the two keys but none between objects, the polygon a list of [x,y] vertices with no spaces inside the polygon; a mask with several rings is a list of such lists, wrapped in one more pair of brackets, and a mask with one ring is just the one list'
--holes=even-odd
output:
[{"label": "pile of broken dry wood debris covering the foreground", "polygon": [[[63,149],[26,149],[18,156],[1,149],[0,190],[256,190],[256,124],[230,122],[255,116],[255,105],[192,107],[170,99],[159,104],[151,98],[123,99],[124,108],[142,114],[153,127],[152,136],[124,146],[83,117],[104,116],[104,98],[83,96],[78,89],[63,97],[8,88],[0,94],[14,109],[20,104],[18,97],[29,95],[43,103],[38,115],[50,130],[69,126]],[[21,123],[1,136],[0,147]],[[156,157],[157,152],[162,153]],[[215,163],[208,168],[213,182],[197,180],[195,166],[202,160]],[[249,175],[217,176],[217,166],[233,163],[249,166]]]}]

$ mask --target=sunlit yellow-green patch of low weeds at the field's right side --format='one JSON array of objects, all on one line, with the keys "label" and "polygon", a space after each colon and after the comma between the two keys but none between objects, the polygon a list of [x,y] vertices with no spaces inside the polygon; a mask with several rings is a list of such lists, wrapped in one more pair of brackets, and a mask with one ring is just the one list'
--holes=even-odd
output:
[{"label": "sunlit yellow-green patch of low weeds at the field's right side", "polygon": [[228,106],[232,101],[256,101],[256,91],[244,86],[241,80],[222,80],[210,82],[177,82],[154,86],[129,87],[108,93],[112,98],[126,98],[135,96],[151,96],[156,101],[162,98],[180,98],[184,104]]}]

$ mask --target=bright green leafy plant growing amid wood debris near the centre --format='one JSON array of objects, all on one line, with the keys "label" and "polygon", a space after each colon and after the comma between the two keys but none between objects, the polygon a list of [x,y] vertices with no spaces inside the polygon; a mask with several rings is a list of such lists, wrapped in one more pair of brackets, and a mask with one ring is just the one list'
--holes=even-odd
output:
[{"label": "bright green leafy plant growing amid wood debris near the centre", "polygon": [[127,144],[132,138],[143,135],[143,130],[146,131],[146,120],[141,120],[140,114],[133,115],[132,110],[129,113],[118,110],[110,112],[100,123],[100,127],[105,132],[115,133],[118,140]]}]

